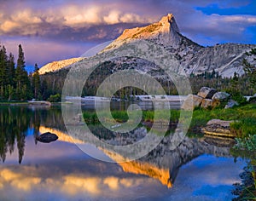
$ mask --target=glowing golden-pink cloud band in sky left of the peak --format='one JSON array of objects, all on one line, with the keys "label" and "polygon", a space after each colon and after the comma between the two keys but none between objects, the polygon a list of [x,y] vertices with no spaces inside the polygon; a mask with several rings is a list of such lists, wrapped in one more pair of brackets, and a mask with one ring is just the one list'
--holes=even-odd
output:
[{"label": "glowing golden-pink cloud band in sky left of the peak", "polygon": [[[52,8],[34,7],[35,5],[25,1],[24,4],[19,4],[19,8],[14,6],[13,9],[1,10],[3,13],[2,16],[0,15],[0,35],[48,38],[61,35],[63,39],[62,36],[67,33],[67,30],[70,34],[80,33],[82,35],[84,31],[86,32],[86,30],[95,26],[106,27],[106,25],[117,24],[124,26],[124,23],[143,24],[152,21],[147,17],[133,13],[132,10],[120,9],[120,3],[112,6],[112,3],[91,4],[81,1],[78,4],[63,3]],[[127,28],[127,26],[124,28]],[[95,37],[86,37],[86,40],[95,40],[96,36],[102,39],[101,32],[91,35]],[[106,36],[107,34],[104,34],[103,37]],[[67,35],[66,39],[70,39],[70,37]]]}]

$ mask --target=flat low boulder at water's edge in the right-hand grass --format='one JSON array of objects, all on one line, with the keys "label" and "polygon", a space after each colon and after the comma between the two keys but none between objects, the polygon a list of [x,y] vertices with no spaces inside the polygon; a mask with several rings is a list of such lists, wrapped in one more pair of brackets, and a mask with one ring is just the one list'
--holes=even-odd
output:
[{"label": "flat low boulder at water's edge in the right-hand grass", "polygon": [[212,119],[207,123],[207,126],[202,128],[202,132],[206,135],[214,135],[221,137],[236,137],[230,132],[230,123],[234,121],[223,121],[220,119]]}]

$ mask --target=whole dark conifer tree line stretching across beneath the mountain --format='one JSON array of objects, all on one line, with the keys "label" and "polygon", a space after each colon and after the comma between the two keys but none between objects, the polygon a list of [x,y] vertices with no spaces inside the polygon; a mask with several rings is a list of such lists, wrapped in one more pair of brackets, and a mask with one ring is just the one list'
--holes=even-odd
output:
[{"label": "whole dark conifer tree line stretching across beneath the mountain", "polygon": [[[0,100],[31,100],[32,98],[36,100],[61,100],[62,87],[67,77],[68,69],[39,75],[38,65],[35,64],[34,72],[27,74],[25,70],[25,56],[21,45],[19,45],[19,55],[16,65],[14,55],[11,53],[7,55],[4,46],[0,48]],[[255,60],[256,49],[252,49],[247,55],[253,55]],[[243,60],[242,65],[246,73],[242,76],[238,76],[235,73],[233,78],[222,78],[214,70],[212,72],[203,72],[200,75],[191,74],[189,81],[193,93],[196,94],[201,87],[208,86],[220,91],[235,93],[236,95],[254,95],[256,93],[256,67],[247,60]],[[96,70],[90,74],[90,77],[85,82],[82,96],[96,95],[100,84],[108,76],[113,74],[113,72],[132,69],[133,67],[130,64],[124,63],[119,69],[112,61],[105,61],[98,64]],[[156,69],[147,73],[157,79],[166,90],[167,95],[178,94],[175,84],[171,78],[168,78],[168,75],[164,71]],[[85,75],[82,75],[80,72],[78,74],[81,78],[85,78]],[[72,82],[74,86],[73,91],[75,91],[79,80],[74,79]],[[119,85],[119,83],[116,84]],[[124,89],[119,89],[113,96],[124,99],[131,97],[131,95],[145,94],[146,92],[143,89],[125,87]]]}]

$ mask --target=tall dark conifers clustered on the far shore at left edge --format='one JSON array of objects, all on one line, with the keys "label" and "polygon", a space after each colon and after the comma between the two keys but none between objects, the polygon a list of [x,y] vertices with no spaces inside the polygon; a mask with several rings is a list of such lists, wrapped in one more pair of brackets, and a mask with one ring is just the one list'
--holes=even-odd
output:
[{"label": "tall dark conifers clustered on the far shore at left edge", "polygon": [[37,100],[42,99],[39,68],[35,64],[33,73],[26,72],[25,55],[21,44],[18,47],[18,59],[7,54],[4,45],[0,45],[0,100]]}]

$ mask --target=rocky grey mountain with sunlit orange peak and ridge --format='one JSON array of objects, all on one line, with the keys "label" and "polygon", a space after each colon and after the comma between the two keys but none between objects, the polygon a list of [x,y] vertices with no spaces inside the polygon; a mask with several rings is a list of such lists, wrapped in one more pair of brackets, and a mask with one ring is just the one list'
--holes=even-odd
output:
[{"label": "rocky grey mountain with sunlit orange peak and ridge", "polygon": [[[251,58],[252,56],[247,54],[251,49],[256,48],[255,44],[224,43],[203,47],[182,35],[173,14],[167,14],[160,21],[148,26],[126,29],[97,55],[104,55],[109,51],[118,52],[127,43],[136,43],[142,40],[159,45],[165,49],[168,55],[172,55],[172,60],[169,61],[169,71],[181,75],[201,74],[214,70],[218,75],[230,78],[235,72],[240,75],[244,73],[243,59],[256,63]],[[120,59],[117,57],[116,60]],[[43,66],[40,73],[59,71],[61,68],[71,67],[68,65],[77,61],[68,60],[67,65],[60,65],[58,62],[51,63]],[[143,61],[143,63],[145,62]],[[176,67],[171,65],[173,63],[177,64]],[[148,68],[145,65],[141,66],[141,62],[136,66],[140,71],[147,72]],[[45,69],[47,70],[45,71]]]}]

